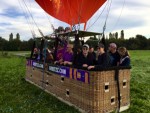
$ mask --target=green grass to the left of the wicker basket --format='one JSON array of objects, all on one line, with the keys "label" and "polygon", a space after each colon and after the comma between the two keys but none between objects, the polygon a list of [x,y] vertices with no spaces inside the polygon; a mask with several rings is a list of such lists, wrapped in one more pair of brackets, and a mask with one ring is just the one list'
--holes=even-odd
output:
[{"label": "green grass to the left of the wicker basket", "polygon": [[24,58],[0,57],[0,113],[78,113],[24,77]]}]

